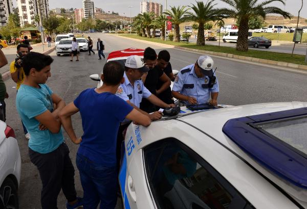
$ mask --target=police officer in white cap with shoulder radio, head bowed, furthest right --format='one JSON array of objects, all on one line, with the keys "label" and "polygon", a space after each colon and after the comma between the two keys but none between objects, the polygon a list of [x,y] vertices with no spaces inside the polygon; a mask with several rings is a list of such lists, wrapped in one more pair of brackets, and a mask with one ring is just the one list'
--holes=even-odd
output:
[{"label": "police officer in white cap with shoulder radio, head bowed, furthest right", "polygon": [[217,105],[219,87],[212,67],[210,56],[200,56],[195,64],[180,70],[175,78],[172,95],[180,100],[181,106],[204,103]]}]

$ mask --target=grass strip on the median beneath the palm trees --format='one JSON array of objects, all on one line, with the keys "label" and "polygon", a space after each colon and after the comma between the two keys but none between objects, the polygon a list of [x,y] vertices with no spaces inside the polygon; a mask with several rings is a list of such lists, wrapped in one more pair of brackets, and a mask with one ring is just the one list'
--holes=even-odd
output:
[{"label": "grass strip on the median beneath the palm trees", "polygon": [[132,34],[132,35],[121,34],[119,36],[146,40],[146,41],[151,41],[151,42],[156,42],[156,43],[164,43],[164,44],[169,44],[169,45],[174,45],[174,46],[182,46],[186,48],[215,51],[218,53],[227,53],[227,54],[260,58],[260,59],[266,59],[266,60],[274,60],[274,61],[279,61],[279,62],[289,62],[289,63],[299,64],[299,65],[307,65],[307,63],[304,62],[305,56],[303,55],[293,55],[293,57],[291,57],[291,54],[287,54],[287,53],[275,53],[271,51],[260,51],[260,50],[248,50],[247,52],[243,52],[243,51],[237,51],[235,48],[232,48],[232,47],[213,46],[213,45],[198,46],[196,45],[196,43],[163,41],[157,38],[149,39],[149,38],[137,36],[136,34]]}]

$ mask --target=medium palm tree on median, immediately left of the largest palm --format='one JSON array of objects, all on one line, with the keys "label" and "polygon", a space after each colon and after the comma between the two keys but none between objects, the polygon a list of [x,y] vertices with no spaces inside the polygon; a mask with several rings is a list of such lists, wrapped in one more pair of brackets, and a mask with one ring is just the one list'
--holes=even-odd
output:
[{"label": "medium palm tree on median, immediately left of the largest palm", "polygon": [[192,4],[192,6],[189,6],[194,13],[188,12],[188,19],[199,23],[196,45],[205,45],[204,24],[220,19],[221,15],[218,10],[213,9],[216,5],[213,4],[214,1],[209,0],[206,4],[196,1],[196,5]]}]

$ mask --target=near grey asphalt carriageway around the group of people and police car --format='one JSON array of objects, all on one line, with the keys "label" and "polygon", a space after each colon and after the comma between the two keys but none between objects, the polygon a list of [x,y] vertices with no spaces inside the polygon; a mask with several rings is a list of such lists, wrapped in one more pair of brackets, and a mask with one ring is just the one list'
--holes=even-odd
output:
[{"label": "near grey asphalt carriageway around the group of people and police car", "polygon": [[[128,47],[145,48],[151,46],[157,53],[164,49],[155,45],[148,45],[137,41],[127,40],[113,35],[91,34],[94,41],[100,37],[105,44],[105,54],[110,51]],[[168,49],[171,54],[173,69],[194,63],[199,54],[176,49]],[[96,86],[96,82],[89,79],[89,75],[100,73],[104,60],[98,60],[95,56],[88,56],[87,53],[80,54],[80,62],[70,62],[69,57],[57,57],[55,52],[50,54],[54,59],[51,73],[47,84],[51,89],[64,99],[66,103],[73,101],[77,95],[86,88]],[[305,101],[307,102],[307,75],[280,71],[275,68],[257,66],[249,63],[237,62],[222,58],[213,58],[217,67],[217,76],[220,82],[219,103],[228,105],[244,105],[258,102],[272,101]],[[7,123],[15,130],[18,140],[21,159],[21,183],[19,189],[20,208],[40,208],[41,182],[35,166],[28,157],[28,141],[25,139],[21,122],[16,112],[15,97],[16,88],[12,80],[5,82],[10,98],[7,103]],[[82,135],[80,115],[73,116],[73,125],[78,136]],[[67,135],[64,135],[67,139]],[[78,149],[70,140],[66,140],[70,147],[70,156],[75,165],[75,156]],[[82,196],[82,188],[79,180],[78,169],[76,168],[75,184],[77,194]],[[117,208],[120,208],[118,201]],[[65,208],[65,199],[62,193],[58,198],[58,207]]]}]

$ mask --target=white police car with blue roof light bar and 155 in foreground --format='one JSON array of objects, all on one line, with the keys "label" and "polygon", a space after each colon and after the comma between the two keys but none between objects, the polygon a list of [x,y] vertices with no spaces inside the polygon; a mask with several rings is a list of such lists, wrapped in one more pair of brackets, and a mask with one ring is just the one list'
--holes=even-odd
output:
[{"label": "white police car with blue roof light bar and 155 in foreground", "polygon": [[[223,106],[224,107],[224,106]],[[307,103],[190,111],[130,124],[125,208],[307,208]]]}]

